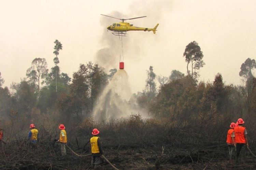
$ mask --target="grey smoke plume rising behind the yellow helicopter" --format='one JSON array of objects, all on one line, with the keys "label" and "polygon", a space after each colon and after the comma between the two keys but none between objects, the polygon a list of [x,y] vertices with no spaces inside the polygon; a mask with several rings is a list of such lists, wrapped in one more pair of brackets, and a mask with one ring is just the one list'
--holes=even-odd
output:
[{"label": "grey smoke plume rising behind the yellow helicopter", "polygon": [[[138,8],[138,6],[143,6],[143,8]],[[119,11],[112,11],[108,14],[103,15],[108,15],[120,19],[135,18],[147,15],[148,18],[125,20],[125,22],[129,22],[130,24],[134,23],[133,26],[136,27],[154,28],[159,18],[162,17],[162,14],[169,10],[171,10],[171,3],[167,1],[163,2],[163,4],[160,5],[153,2],[147,2],[145,4],[144,1],[137,1],[136,3],[132,3],[130,5],[128,14],[124,14]],[[119,58],[120,56],[123,57],[123,52],[124,62],[126,60],[138,61],[142,57],[145,57],[145,54],[140,53],[141,49],[151,48],[150,46],[147,46],[147,43],[145,43],[145,36],[147,36],[147,34],[153,34],[152,31],[135,31],[137,32],[137,34],[133,34],[132,32],[134,31],[128,31],[127,36],[125,37],[115,36],[112,34],[112,31],[107,31],[106,27],[108,27],[112,23],[122,22],[121,20],[115,18],[110,18],[106,16],[101,16],[100,18],[101,26],[104,28],[100,41],[103,48],[101,48],[97,52],[95,56],[95,62],[103,66],[106,71],[112,68],[116,68],[118,66]],[[154,23],[152,23],[151,21],[154,21]],[[151,46],[154,46],[154,44],[152,43]]]}]

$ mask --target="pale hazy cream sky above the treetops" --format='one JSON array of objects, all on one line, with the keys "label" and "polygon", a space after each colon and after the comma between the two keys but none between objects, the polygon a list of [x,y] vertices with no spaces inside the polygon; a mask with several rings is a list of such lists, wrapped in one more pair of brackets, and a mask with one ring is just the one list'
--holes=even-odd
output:
[{"label": "pale hazy cream sky above the treetops", "polygon": [[119,68],[121,41],[106,27],[117,18],[157,33],[128,32],[123,38],[125,70],[132,92],[145,87],[146,70],[168,77],[176,69],[186,73],[183,52],[191,41],[203,51],[200,80],[213,81],[219,72],[226,84],[241,85],[241,64],[256,54],[255,0],[0,0],[0,72],[4,86],[19,83],[34,58],[54,66],[58,39],[61,72],[72,78],[80,63],[97,62]]}]

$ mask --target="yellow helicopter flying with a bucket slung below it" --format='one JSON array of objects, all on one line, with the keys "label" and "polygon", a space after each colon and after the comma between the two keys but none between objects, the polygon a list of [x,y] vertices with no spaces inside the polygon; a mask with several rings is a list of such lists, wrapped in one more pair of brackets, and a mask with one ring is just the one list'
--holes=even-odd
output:
[{"label": "yellow helicopter flying with a bucket slung below it", "polygon": [[[100,14],[103,15],[103,14]],[[106,17],[111,17],[108,15],[103,15]],[[143,16],[146,17],[146,16]],[[136,17],[136,18],[129,18],[129,19],[137,19],[137,18],[143,18],[143,17]],[[111,17],[111,18],[115,18],[115,17]],[[156,26],[154,28],[142,28],[142,27],[134,27],[133,24],[130,24],[128,22],[124,22],[125,20],[128,19],[120,19],[120,18],[115,18],[115,19],[119,19],[122,20],[122,22],[119,23],[113,23],[112,25],[108,26],[107,29],[110,31],[113,31],[113,35],[118,35],[118,36],[125,36],[127,33],[127,31],[153,31],[153,33],[156,33],[156,28],[158,27],[159,24],[156,24]]]}]

